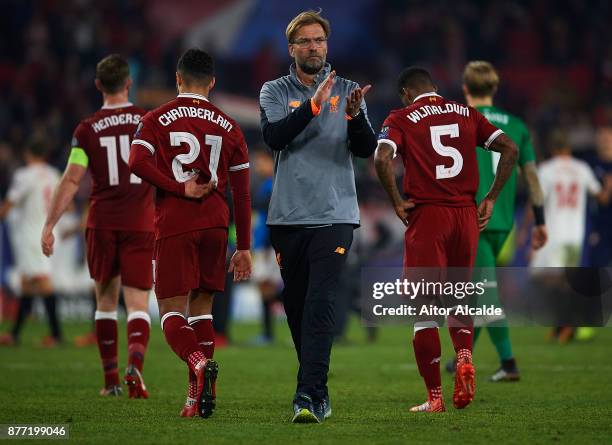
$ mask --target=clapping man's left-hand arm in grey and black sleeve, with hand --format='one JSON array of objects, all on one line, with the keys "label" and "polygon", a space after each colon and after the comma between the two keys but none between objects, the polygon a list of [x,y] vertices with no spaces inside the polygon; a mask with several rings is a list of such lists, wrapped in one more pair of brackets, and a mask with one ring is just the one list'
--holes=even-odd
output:
[{"label": "clapping man's left-hand arm in grey and black sleeve, with hand", "polygon": [[273,83],[264,84],[259,95],[261,131],[264,141],[272,150],[284,150],[319,115],[323,103],[329,99],[335,76],[335,71],[329,73],[314,96],[289,114],[285,112],[286,105],[281,99],[283,95],[275,91],[276,86]]}]

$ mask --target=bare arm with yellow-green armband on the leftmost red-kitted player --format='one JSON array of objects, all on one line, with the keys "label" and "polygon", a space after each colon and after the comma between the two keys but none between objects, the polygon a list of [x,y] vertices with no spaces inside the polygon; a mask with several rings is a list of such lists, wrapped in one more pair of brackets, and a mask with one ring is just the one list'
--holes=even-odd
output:
[{"label": "bare arm with yellow-green armband on the leftmost red-kitted player", "polygon": [[43,226],[42,235],[40,238],[40,246],[46,256],[53,255],[53,244],[55,237],[53,236],[53,228],[66,211],[74,195],[79,190],[79,185],[87,171],[87,154],[82,148],[75,147],[68,158],[68,165],[62,175],[62,179],[53,192],[51,206],[47,213],[47,219]]}]

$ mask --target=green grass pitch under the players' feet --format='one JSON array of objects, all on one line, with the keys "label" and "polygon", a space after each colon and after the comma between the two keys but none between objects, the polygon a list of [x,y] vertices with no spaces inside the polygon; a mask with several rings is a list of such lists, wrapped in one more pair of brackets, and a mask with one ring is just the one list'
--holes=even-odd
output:
[{"label": "green grass pitch under the players' feet", "polygon": [[[87,324],[68,324],[71,339]],[[0,327],[6,330],[6,324]],[[72,443],[550,443],[603,444],[612,440],[612,330],[599,329],[587,343],[545,341],[545,330],[511,331],[522,371],[519,383],[489,383],[497,363],[487,334],[477,345],[476,397],[452,407],[452,379],[443,376],[448,412],[411,414],[426,398],[408,327],[381,329],[365,342],[357,323],[351,345],[334,347],[330,371],[333,416],[321,425],[293,425],[291,397],[296,360],[288,330],[277,325],[275,346],[249,347],[254,325],[232,327],[235,345],[219,349],[217,410],[213,417],[178,416],[187,370],[154,323],[144,375],[149,400],[102,398],[97,349],[37,346],[45,327],[26,325],[19,348],[0,349],[0,424],[69,423]],[[443,362],[450,357],[443,332]],[[120,366],[126,340],[120,327]],[[31,443],[31,442],[30,442]]]}]

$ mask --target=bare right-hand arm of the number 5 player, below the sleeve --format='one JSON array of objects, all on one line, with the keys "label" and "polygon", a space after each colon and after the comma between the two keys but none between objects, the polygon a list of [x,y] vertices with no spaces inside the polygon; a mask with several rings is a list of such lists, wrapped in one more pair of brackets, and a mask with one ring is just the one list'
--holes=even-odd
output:
[{"label": "bare right-hand arm of the number 5 player, below the sleeve", "polygon": [[514,165],[516,164],[516,159],[518,158],[518,148],[516,144],[501,130],[493,132],[486,143],[483,144],[483,147],[487,150],[496,151],[501,156],[497,164],[497,171],[493,184],[478,206],[478,226],[480,230],[484,230],[489,223],[489,219],[491,219],[491,215],[493,214],[495,201],[508,181],[508,178],[510,178]]}]

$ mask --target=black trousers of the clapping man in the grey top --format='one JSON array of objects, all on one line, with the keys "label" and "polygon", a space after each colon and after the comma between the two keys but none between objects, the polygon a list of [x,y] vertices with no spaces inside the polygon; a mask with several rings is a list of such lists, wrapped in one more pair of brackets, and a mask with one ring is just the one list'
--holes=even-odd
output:
[{"label": "black trousers of the clapping man in the grey top", "polygon": [[285,285],[283,304],[300,363],[296,392],[315,401],[327,395],[336,289],[353,228],[351,224],[270,227]]}]

